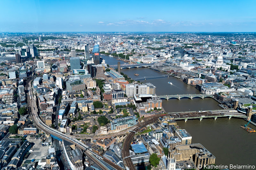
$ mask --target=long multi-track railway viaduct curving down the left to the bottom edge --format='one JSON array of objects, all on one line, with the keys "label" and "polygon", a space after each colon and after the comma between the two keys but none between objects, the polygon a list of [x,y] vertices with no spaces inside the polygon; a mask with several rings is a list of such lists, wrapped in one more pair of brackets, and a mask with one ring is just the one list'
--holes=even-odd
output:
[{"label": "long multi-track railway viaduct curving down the left to the bottom edge", "polygon": [[[31,81],[33,81],[32,79],[29,79],[29,81],[27,82],[26,84],[26,90],[28,90],[28,88],[31,89]],[[31,91],[31,94],[32,94],[32,91]],[[85,150],[85,154],[88,158],[90,158],[95,164],[97,164],[100,168],[102,168],[103,170],[108,170],[108,168],[104,165],[102,165],[100,163],[100,161],[96,158],[94,158],[91,153],[87,150],[87,147],[86,145],[84,145],[82,142],[76,140],[75,138],[73,138],[72,136],[70,135],[66,135],[66,134],[63,134],[61,133],[60,131],[57,131],[56,129],[53,129],[51,127],[48,127],[46,124],[44,124],[44,122],[38,117],[37,115],[37,106],[36,106],[36,99],[34,98],[33,95],[30,95],[31,96],[31,100],[30,100],[30,97],[29,97],[29,93],[27,95],[27,101],[28,101],[28,112],[29,112],[29,116],[32,118],[33,120],[33,124],[38,128],[38,129],[41,129],[42,131],[44,131],[45,133],[48,133],[48,134],[52,134],[58,138],[61,138],[61,139],[64,139],[64,140],[67,140],[71,143],[74,143],[76,144],[76,147],[82,149],[83,151]],[[121,170],[122,168],[120,168],[119,166],[115,165],[115,164],[111,164],[111,166],[113,166],[115,169],[117,170]]]}]

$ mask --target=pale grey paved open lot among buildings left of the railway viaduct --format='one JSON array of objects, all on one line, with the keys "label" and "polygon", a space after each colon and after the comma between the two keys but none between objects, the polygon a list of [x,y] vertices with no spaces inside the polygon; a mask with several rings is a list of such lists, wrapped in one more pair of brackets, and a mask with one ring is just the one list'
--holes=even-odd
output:
[{"label": "pale grey paved open lot among buildings left of the railway viaduct", "polygon": [[49,155],[48,149],[49,146],[42,146],[42,141],[40,139],[36,139],[36,137],[30,137],[28,136],[26,138],[29,142],[34,143],[32,146],[32,150],[34,152],[31,152],[30,155],[28,156],[29,160],[32,159],[45,159],[47,155]]}]

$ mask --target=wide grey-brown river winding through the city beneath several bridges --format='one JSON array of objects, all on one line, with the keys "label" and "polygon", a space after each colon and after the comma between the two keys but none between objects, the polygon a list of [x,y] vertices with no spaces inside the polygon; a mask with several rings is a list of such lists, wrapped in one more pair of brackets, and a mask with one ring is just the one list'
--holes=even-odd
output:
[{"label": "wide grey-brown river winding through the city beneath several bridges", "polygon": [[[106,60],[106,64],[115,65],[115,57],[101,55]],[[120,61],[124,64],[124,61]],[[127,63],[128,64],[128,63]],[[130,68],[122,69],[121,72],[127,74],[132,79],[139,77],[154,77],[163,75],[150,68]],[[139,76],[134,75],[138,73]],[[187,85],[180,79],[173,76],[154,79],[144,79],[141,82],[150,82],[156,86],[156,95],[177,95],[177,94],[199,94],[199,91],[191,85]],[[168,81],[173,85],[168,84]],[[198,111],[198,110],[221,110],[218,102],[212,98],[191,99],[163,99],[162,106],[166,112]],[[215,157],[216,165],[256,165],[256,133],[248,133],[240,125],[246,124],[243,119],[238,118],[217,118],[199,120],[177,121],[177,124],[186,129],[192,136],[192,143],[201,143]],[[250,124],[253,129],[256,127]]]}]

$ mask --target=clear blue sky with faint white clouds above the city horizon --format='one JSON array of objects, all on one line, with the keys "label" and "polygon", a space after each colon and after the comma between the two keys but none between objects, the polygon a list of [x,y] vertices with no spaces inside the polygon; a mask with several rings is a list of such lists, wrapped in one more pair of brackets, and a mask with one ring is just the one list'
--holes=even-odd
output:
[{"label": "clear blue sky with faint white clouds above the city horizon", "polygon": [[1,2],[0,32],[256,32],[255,0]]}]

